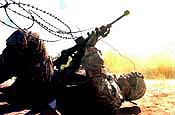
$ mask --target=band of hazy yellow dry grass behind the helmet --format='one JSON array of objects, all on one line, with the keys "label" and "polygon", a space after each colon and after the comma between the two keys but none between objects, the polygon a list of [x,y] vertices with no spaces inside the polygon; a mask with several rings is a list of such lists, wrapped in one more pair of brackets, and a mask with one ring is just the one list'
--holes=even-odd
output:
[{"label": "band of hazy yellow dry grass behind the helmet", "polygon": [[104,52],[105,66],[112,73],[139,71],[147,79],[175,78],[175,59],[172,59],[169,55],[155,54],[144,59],[128,57],[122,57],[114,51]]}]

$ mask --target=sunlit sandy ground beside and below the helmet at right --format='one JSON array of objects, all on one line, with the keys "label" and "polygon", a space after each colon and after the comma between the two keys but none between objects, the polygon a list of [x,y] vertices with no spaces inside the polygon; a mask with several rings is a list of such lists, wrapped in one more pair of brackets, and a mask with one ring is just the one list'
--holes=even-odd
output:
[{"label": "sunlit sandy ground beside and below the helmet at right", "polygon": [[175,80],[146,80],[144,97],[126,102],[116,115],[175,115]]}]

